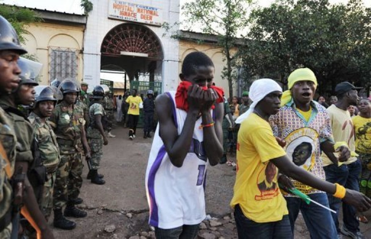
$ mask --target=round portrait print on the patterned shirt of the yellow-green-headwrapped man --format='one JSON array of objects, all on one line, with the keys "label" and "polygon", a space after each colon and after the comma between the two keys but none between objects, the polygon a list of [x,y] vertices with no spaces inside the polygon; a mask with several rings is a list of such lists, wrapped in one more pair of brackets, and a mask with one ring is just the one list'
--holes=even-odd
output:
[{"label": "round portrait print on the patterned shirt of the yellow-green-headwrapped man", "polygon": [[285,151],[292,162],[309,171],[315,164],[318,133],[312,128],[300,128],[285,138]]}]

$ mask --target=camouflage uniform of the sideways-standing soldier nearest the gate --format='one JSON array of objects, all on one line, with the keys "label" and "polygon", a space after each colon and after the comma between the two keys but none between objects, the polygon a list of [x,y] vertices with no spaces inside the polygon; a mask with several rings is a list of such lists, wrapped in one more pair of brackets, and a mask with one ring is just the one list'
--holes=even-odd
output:
[{"label": "camouflage uniform of the sideways-standing soldier nearest the gate", "polygon": [[88,138],[88,144],[91,148],[91,167],[92,169],[99,169],[99,163],[103,156],[103,137],[99,130],[93,127],[93,122],[95,122],[95,115],[106,114],[104,108],[99,103],[93,103],[89,108],[90,122],[92,122],[88,130],[86,131],[86,138]]}]

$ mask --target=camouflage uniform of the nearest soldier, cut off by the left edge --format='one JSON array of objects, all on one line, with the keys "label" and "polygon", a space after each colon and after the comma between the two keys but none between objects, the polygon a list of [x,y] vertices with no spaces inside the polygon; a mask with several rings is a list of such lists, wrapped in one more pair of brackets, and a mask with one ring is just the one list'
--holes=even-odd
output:
[{"label": "camouflage uniform of the nearest soldier, cut off by the left edge", "polygon": [[[0,141],[6,151],[10,161],[10,168],[14,171],[16,156],[16,135],[13,131],[12,122],[7,118],[7,114],[0,108]],[[9,177],[5,172],[6,159],[0,154],[0,218],[11,210],[12,206],[12,186]],[[9,223],[3,230],[0,230],[0,238],[10,238],[12,233],[12,223]]]}]

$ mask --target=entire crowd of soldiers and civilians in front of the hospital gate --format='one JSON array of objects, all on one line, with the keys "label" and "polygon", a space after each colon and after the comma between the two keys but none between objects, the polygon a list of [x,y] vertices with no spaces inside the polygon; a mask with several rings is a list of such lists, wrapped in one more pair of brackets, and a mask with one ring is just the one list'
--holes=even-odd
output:
[{"label": "entire crowd of soldiers and civilians in front of the hospital gate", "polygon": [[[115,109],[129,140],[140,109],[144,138],[152,137],[158,118],[145,173],[156,238],[196,237],[206,217],[207,165],[219,163],[236,170],[230,206],[239,238],[293,238],[299,211],[311,238],[364,238],[359,222],[371,207],[371,100],[351,83],[336,85],[326,108],[323,96],[313,100],[315,74],[299,68],[287,91],[264,78],[242,93],[242,102],[229,102],[213,84],[211,59],[193,52],[176,91],[154,99],[148,90],[142,99],[133,89],[116,99],[107,86],[94,86],[89,95],[86,83],[72,79],[39,85],[40,65],[20,57],[26,52],[0,17],[0,238],[53,238],[52,212],[54,227],[65,230],[76,227],[68,218],[87,216],[76,207],[83,202],[83,158],[91,183],[105,184],[98,170],[107,137],[115,137]],[[24,105],[28,115],[20,111]],[[228,150],[236,162],[227,159]]]}]

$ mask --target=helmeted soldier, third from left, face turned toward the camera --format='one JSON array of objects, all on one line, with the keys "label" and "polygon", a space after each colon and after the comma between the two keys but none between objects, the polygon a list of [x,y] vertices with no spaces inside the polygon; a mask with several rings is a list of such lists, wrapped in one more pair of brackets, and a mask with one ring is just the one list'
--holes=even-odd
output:
[{"label": "helmeted soldier, third from left, face turned toward the camera", "polygon": [[47,181],[43,187],[40,207],[45,219],[48,220],[53,209],[53,188],[60,155],[56,135],[47,117],[52,115],[57,98],[55,98],[56,93],[53,91],[52,86],[39,87],[39,92],[36,93],[33,112],[31,112],[28,118],[33,126],[36,139],[39,142],[42,163],[46,167]]}]

